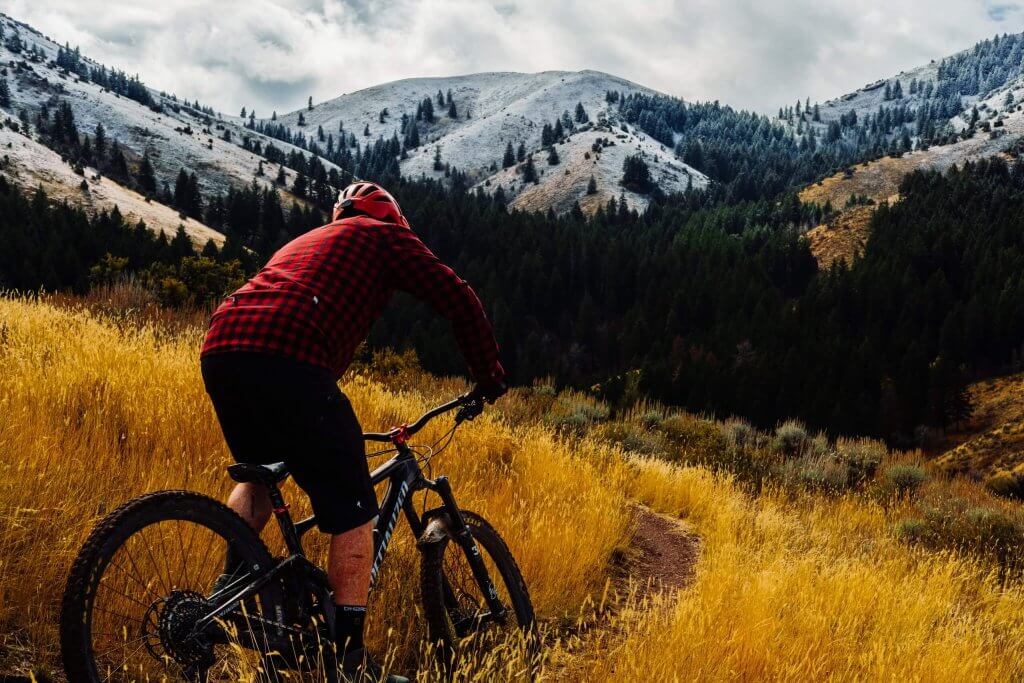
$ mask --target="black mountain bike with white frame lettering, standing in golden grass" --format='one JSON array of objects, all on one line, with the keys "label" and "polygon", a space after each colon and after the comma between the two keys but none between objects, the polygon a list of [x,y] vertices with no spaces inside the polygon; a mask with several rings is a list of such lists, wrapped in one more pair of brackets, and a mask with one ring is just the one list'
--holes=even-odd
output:
[{"label": "black mountain bike with white frame lettering, standing in golden grass", "polygon": [[[410,444],[430,420],[452,411],[455,424],[434,443],[439,447]],[[539,648],[529,593],[505,542],[481,516],[459,507],[446,477],[430,479],[423,471],[459,426],[482,411],[482,400],[466,394],[412,424],[364,434],[389,443],[371,456],[393,454],[371,475],[375,485],[387,482],[374,531],[373,581],[404,513],[420,552],[426,631],[442,667],[466,648],[509,638],[530,660]],[[293,521],[280,488],[285,463],[234,464],[227,472],[269,492],[285,556],[271,556],[251,526],[207,496],[163,490],[126,503],[95,526],[68,579],[60,650],[69,681],[243,675],[276,681],[286,670],[339,680],[327,573],[302,547],[315,518]],[[413,495],[420,490],[436,494],[439,506],[418,512]],[[228,547],[243,568],[218,580]]]}]

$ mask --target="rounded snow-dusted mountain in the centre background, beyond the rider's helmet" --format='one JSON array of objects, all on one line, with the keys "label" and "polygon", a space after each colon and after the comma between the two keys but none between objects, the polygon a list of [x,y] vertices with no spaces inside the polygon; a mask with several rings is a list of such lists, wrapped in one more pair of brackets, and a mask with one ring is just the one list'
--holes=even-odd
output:
[{"label": "rounded snow-dusted mountain in the centre background, beyond the rider's helmet", "polygon": [[[359,139],[392,135],[403,139],[403,119],[415,120],[428,100],[434,120],[421,121],[420,145],[400,162],[402,174],[443,176],[444,170],[436,168],[439,151],[441,166],[447,164],[467,173],[470,182],[485,191],[501,187],[515,208],[561,212],[577,201],[584,208],[596,207],[624,191],[620,184],[623,162],[632,154],[643,156],[654,181],[665,191],[708,183],[703,174],[676,158],[672,150],[624,126],[616,108],[606,99],[608,92],[653,91],[595,71],[407,79],[344,94],[278,121],[309,134],[318,135],[323,129],[337,136],[346,130]],[[585,116],[577,117],[581,106]],[[546,124],[554,127],[557,122],[561,122],[565,136],[554,145],[559,162],[550,164],[549,153],[542,151],[542,134]],[[537,183],[523,181],[524,162],[518,159],[511,168],[503,168],[509,143],[516,152],[523,145],[532,157]],[[597,193],[588,195],[592,175]],[[646,207],[645,196],[626,194],[631,206]]]}]

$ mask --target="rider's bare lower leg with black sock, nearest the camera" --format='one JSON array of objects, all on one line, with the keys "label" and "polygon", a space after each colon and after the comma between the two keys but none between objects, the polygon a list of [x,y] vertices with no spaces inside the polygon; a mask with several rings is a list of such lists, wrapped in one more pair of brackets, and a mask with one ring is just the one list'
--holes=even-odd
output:
[{"label": "rider's bare lower leg with black sock, nearest the camera", "polygon": [[339,653],[351,652],[361,657],[373,556],[373,520],[331,539],[328,580],[334,591],[335,642]]}]

